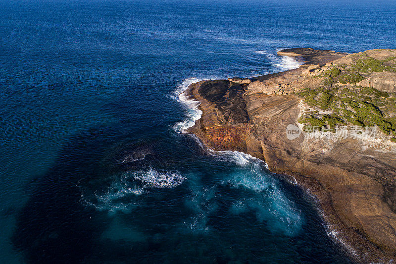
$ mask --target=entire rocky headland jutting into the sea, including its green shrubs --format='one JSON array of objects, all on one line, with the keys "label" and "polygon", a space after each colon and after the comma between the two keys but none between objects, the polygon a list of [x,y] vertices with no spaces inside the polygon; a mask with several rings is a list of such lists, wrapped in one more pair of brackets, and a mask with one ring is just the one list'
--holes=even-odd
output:
[{"label": "entire rocky headland jutting into the sea, including its green shrubs", "polygon": [[[396,50],[297,48],[278,55],[305,63],[190,85],[185,93],[200,102],[202,116],[188,132],[210,149],[241,151],[265,160],[272,172],[295,177],[317,198],[329,231],[356,261],[395,262]],[[293,139],[290,124],[300,131]],[[378,131],[341,137],[334,131],[341,126]],[[320,133],[309,134],[312,127]]]}]

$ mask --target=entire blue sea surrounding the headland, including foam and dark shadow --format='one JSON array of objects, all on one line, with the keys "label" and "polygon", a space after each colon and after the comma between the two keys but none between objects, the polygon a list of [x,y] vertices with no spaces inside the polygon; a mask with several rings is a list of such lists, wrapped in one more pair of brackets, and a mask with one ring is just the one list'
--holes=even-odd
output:
[{"label": "entire blue sea surrounding the headland, including foam and dark shadow", "polygon": [[297,186],[178,132],[177,92],[295,67],[281,48],[396,48],[395,1],[1,0],[0,21],[0,263],[350,262]]}]

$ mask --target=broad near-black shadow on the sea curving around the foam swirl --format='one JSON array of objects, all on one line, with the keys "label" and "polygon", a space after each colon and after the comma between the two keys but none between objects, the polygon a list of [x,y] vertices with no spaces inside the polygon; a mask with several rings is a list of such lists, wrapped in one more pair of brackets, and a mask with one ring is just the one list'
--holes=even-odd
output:
[{"label": "broad near-black shadow on the sea curving around the foam swirl", "polygon": [[[94,196],[109,186],[113,175],[141,167],[134,161],[144,155],[149,154],[150,164],[156,167],[165,168],[171,163],[172,154],[164,140],[152,135],[133,140],[125,136],[131,135],[127,127],[120,123],[118,127],[95,128],[72,137],[47,173],[29,185],[32,194],[17,215],[11,237],[27,263],[128,261],[131,245],[138,245],[103,240],[101,235],[111,222],[108,212],[82,201],[83,191]],[[194,140],[188,140],[189,144],[195,144]],[[158,247],[158,241],[151,239],[142,244],[141,252]]]}]

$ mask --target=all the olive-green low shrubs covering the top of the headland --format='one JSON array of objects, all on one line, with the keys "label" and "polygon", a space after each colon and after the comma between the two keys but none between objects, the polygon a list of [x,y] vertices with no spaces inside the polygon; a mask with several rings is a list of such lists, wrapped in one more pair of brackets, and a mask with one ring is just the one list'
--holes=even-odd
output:
[{"label": "all the olive-green low shrubs covering the top of the headland", "polygon": [[396,142],[396,94],[356,85],[367,73],[396,72],[396,57],[378,60],[366,53],[352,56],[357,56],[357,60],[334,65],[312,76],[322,78],[319,87],[295,93],[309,106],[299,122],[319,129],[338,125],[378,126]]}]

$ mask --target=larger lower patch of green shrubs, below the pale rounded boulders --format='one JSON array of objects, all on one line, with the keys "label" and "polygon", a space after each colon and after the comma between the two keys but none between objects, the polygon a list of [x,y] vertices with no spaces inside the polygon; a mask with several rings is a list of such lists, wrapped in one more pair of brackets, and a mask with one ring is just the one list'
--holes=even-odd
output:
[{"label": "larger lower patch of green shrubs, below the pale rounded boulders", "polygon": [[319,129],[377,125],[385,134],[396,136],[395,94],[361,86],[303,89],[295,94],[310,108],[301,116],[301,123]]}]

